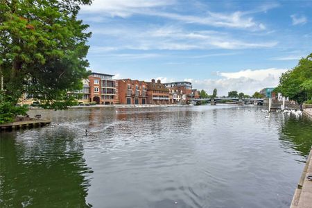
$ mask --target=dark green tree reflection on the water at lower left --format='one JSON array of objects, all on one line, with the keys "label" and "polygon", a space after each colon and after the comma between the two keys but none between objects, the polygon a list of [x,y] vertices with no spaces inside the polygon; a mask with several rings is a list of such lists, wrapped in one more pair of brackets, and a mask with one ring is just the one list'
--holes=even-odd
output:
[{"label": "dark green tree reflection on the water at lower left", "polygon": [[91,207],[91,169],[66,129],[1,133],[0,207]]}]

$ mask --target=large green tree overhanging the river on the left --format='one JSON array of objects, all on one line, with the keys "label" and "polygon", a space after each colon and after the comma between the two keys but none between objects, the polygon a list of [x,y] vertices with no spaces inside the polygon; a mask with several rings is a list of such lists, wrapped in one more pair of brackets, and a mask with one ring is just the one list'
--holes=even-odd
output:
[{"label": "large green tree overhanging the river on the left", "polygon": [[89,71],[91,33],[77,19],[79,6],[91,0],[25,0],[0,3],[2,101],[15,106],[24,92],[44,107],[71,105],[67,92],[80,89]]}]

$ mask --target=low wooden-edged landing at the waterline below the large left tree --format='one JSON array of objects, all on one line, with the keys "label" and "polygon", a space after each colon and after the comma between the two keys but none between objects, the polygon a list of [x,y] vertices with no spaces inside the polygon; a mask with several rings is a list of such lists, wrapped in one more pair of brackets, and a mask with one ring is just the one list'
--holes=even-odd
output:
[{"label": "low wooden-edged landing at the waterline below the large left tree", "polygon": [[42,127],[51,123],[49,120],[31,119],[29,121],[17,121],[13,123],[5,123],[0,125],[0,132],[6,130],[17,130],[20,128]]}]

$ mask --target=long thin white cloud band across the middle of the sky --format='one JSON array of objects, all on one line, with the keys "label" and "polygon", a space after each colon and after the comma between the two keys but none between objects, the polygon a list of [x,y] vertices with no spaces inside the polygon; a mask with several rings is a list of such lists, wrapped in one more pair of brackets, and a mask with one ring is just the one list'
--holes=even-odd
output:
[{"label": "long thin white cloud band across the middle of the sky", "polygon": [[[113,29],[92,28],[94,37],[101,37],[105,47],[92,46],[90,53],[116,50],[207,50],[207,49],[256,49],[276,46],[276,41],[238,40],[217,31],[188,31],[178,26],[149,26],[148,28],[115,25]],[[120,35],[123,34],[123,35]],[[105,37],[107,36],[107,37]],[[115,40],[110,41],[107,40]],[[105,42],[104,42],[105,41]],[[101,51],[103,49],[103,51]]]}]

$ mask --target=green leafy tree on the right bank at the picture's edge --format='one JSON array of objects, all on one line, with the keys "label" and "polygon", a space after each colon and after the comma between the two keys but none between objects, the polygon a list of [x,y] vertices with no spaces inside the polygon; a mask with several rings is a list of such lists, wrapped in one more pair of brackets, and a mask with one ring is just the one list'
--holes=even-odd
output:
[{"label": "green leafy tree on the right bank at the picture's edge", "polygon": [[281,75],[275,92],[281,92],[298,103],[312,99],[312,53]]}]

